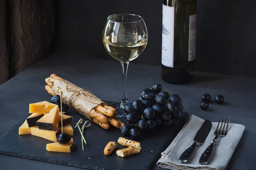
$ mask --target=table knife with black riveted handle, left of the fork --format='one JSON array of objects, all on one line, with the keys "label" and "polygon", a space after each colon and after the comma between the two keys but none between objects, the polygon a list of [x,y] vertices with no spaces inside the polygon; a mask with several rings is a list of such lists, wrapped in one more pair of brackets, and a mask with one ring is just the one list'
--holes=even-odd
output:
[{"label": "table knife with black riveted handle, left of the fork", "polygon": [[189,160],[189,158],[192,156],[192,153],[194,152],[195,148],[204,143],[211,128],[212,128],[212,122],[209,120],[205,120],[203,125],[200,127],[200,129],[196,133],[195,138],[193,140],[193,144],[181,154],[179,158],[179,162],[181,164],[186,163]]}]

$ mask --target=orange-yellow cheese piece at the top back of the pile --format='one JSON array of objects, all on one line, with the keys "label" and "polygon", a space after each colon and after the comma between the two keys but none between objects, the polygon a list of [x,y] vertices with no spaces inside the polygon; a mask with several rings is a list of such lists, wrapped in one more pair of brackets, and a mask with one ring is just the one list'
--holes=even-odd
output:
[{"label": "orange-yellow cheese piece at the top back of the pile", "polygon": [[56,105],[47,101],[29,104],[29,113],[49,113]]}]

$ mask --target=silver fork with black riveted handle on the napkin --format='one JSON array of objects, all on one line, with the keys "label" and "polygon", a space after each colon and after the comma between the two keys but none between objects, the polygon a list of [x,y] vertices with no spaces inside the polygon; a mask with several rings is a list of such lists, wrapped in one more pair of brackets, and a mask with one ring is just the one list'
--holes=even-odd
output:
[{"label": "silver fork with black riveted handle on the napkin", "polygon": [[[201,164],[201,165],[208,164],[209,158],[212,154],[213,147],[217,144],[218,137],[223,137],[223,136],[227,135],[227,129],[228,129],[228,124],[230,122],[230,118],[228,118],[228,121],[227,121],[227,117],[226,117],[224,125],[223,125],[223,121],[224,121],[224,117],[222,118],[222,121],[221,121],[221,117],[220,117],[217,128],[214,132],[215,138],[212,139],[211,144],[207,147],[206,150],[204,150],[204,153],[201,155],[201,157],[199,159],[199,164]],[[219,128],[220,122],[221,122],[221,127]],[[225,129],[226,124],[227,124],[227,126],[226,126],[226,129]],[[223,125],[223,127],[222,127],[222,125]]]}]

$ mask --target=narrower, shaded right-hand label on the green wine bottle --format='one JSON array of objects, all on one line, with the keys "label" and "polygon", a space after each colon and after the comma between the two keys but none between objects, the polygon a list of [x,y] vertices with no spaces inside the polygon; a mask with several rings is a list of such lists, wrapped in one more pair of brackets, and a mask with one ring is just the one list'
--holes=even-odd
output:
[{"label": "narrower, shaded right-hand label on the green wine bottle", "polygon": [[195,59],[195,32],[196,32],[196,14],[189,15],[189,50],[188,61]]}]

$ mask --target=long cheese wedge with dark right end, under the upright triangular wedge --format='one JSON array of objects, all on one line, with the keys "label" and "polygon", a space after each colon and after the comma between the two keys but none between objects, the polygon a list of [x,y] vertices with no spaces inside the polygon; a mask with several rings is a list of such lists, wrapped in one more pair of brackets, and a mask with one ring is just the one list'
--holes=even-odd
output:
[{"label": "long cheese wedge with dark right end, under the upright triangular wedge", "polygon": [[32,135],[47,139],[52,142],[57,142],[57,137],[61,134],[61,130],[52,131],[52,130],[41,130],[38,127],[30,127],[30,128],[31,128]]}]

